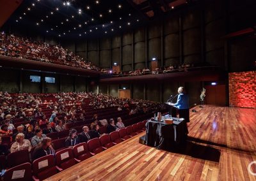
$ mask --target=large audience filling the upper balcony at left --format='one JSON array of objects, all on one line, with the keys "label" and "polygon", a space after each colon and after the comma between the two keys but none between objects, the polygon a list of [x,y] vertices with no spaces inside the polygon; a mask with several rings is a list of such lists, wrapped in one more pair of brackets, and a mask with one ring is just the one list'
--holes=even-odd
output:
[{"label": "large audience filling the upper balcony at left", "polygon": [[106,72],[106,69],[84,61],[82,57],[60,45],[49,45],[49,43],[29,40],[13,34],[8,35],[4,32],[0,35],[0,55]]}]

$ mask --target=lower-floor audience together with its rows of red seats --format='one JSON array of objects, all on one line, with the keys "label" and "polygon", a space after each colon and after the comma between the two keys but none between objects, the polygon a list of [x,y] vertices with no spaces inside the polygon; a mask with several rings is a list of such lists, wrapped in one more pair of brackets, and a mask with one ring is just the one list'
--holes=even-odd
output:
[{"label": "lower-floor audience together with its rows of red seats", "polygon": [[[58,159],[58,153],[65,149],[78,154],[82,152],[78,145],[88,143],[88,148],[83,145],[83,155],[79,154],[83,160],[130,138],[132,135],[125,132],[125,126],[131,129],[133,124],[134,133],[140,133],[145,127],[145,122],[140,121],[149,119],[154,112],[166,112],[161,103],[92,92],[0,92],[0,104],[0,159],[5,157],[1,169],[6,169],[4,162],[8,163],[16,152],[24,156],[16,158],[19,164],[33,163],[49,155]],[[26,154],[29,154],[29,161]],[[12,167],[18,163],[13,163]]]}]

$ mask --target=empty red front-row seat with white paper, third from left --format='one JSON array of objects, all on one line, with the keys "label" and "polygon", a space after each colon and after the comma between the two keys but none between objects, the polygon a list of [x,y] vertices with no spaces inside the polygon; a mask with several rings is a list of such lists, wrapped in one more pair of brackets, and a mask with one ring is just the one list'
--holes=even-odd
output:
[{"label": "empty red front-row seat with white paper, third from left", "polygon": [[72,148],[65,148],[56,152],[55,157],[57,168],[60,171],[70,168],[70,166],[79,163],[79,160],[74,158]]}]

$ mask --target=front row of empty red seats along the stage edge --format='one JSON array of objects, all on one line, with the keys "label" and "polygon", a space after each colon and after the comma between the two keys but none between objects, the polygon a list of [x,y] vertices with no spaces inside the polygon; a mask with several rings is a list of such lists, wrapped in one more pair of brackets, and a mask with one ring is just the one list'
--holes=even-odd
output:
[{"label": "front row of empty red seats along the stage edge", "polygon": [[[56,152],[55,161],[52,155],[40,157],[33,161],[32,167],[28,150],[14,152],[7,156],[7,168],[10,169],[6,171],[3,178],[4,180],[11,180],[11,178],[13,179],[13,177],[17,176],[15,171],[23,170],[22,178],[17,180],[27,181],[31,180],[31,178],[33,180],[44,180],[145,131],[146,122],[147,120],[144,120],[118,131],[113,131],[110,134],[104,134],[100,138],[89,140],[87,143],[79,143],[73,148],[63,148]],[[0,156],[1,164],[6,163],[4,159],[4,156]]]}]

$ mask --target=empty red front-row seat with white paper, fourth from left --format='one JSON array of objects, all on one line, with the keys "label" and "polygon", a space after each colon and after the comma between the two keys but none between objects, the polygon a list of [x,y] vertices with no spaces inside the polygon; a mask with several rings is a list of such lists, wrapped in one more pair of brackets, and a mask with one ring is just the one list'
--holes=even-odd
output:
[{"label": "empty red front-row seat with white paper, fourth from left", "polygon": [[87,143],[79,143],[73,147],[74,157],[80,161],[84,161],[89,157],[92,157],[92,154],[89,152]]}]

